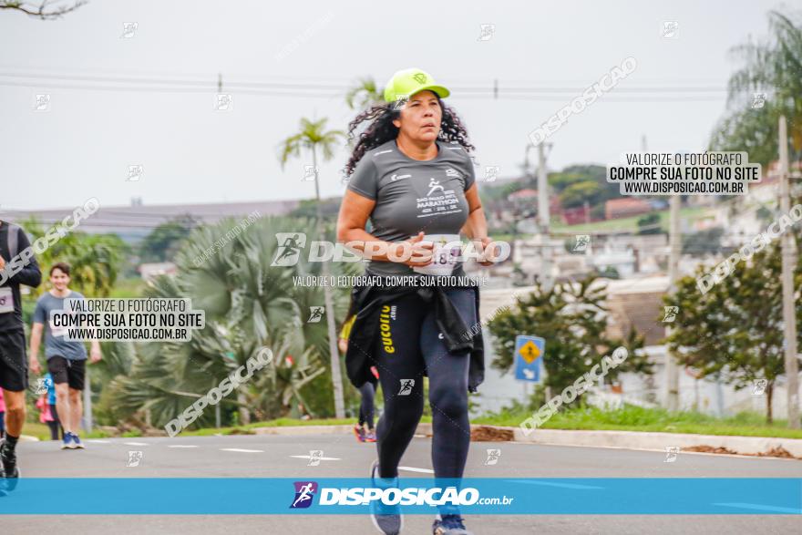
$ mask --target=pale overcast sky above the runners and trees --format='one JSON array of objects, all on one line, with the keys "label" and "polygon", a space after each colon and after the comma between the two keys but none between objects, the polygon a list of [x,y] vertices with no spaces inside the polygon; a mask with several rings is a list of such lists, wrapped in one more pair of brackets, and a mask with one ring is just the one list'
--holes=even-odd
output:
[{"label": "pale overcast sky above the runners and trees", "polygon": [[[632,74],[550,136],[549,169],[616,162],[643,136],[650,150],[704,149],[739,66],[730,50],[766,38],[771,9],[799,12],[802,1],[90,0],[56,21],[2,11],[0,211],[91,197],[314,197],[303,181],[311,159],[282,168],[282,139],[304,117],[347,129],[355,111],[344,88],[360,77],[384,87],[407,67],[452,88],[446,101],[477,147],[478,174],[519,175],[530,131],[626,57],[637,61]],[[482,25],[492,25],[484,37]],[[227,111],[215,109],[219,73]],[[505,94],[514,87],[550,92]],[[37,95],[49,95],[45,110]],[[343,145],[320,164],[323,196],[342,194],[347,157]],[[130,166],[142,166],[139,180],[128,180]]]}]

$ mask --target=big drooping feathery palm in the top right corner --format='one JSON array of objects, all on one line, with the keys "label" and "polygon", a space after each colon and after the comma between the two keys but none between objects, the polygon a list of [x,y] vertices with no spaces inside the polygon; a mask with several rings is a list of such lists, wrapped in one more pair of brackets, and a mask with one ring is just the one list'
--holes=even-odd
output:
[{"label": "big drooping feathery palm in the top right corner", "polygon": [[[728,106],[711,140],[714,150],[744,150],[749,159],[766,164],[776,159],[777,119],[788,119],[795,154],[802,156],[802,26],[787,15],[768,14],[772,35],[765,43],[748,42],[732,53],[743,67],[730,77]],[[766,93],[765,103],[754,103]]]}]

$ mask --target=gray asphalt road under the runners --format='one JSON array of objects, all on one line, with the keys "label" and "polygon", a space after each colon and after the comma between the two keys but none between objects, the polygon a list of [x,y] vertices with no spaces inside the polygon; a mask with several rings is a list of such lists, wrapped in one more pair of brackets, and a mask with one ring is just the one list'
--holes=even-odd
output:
[{"label": "gray asphalt road under the runners", "polygon": [[[20,467],[36,478],[365,478],[374,444],[353,436],[229,436],[114,438],[86,440],[85,450],[60,450],[57,442],[18,447]],[[416,437],[402,460],[402,478],[429,477],[431,442]],[[485,465],[488,448],[500,448],[495,465]],[[323,450],[319,466],[309,451]],[[129,467],[129,451],[141,451]],[[304,458],[306,457],[306,458]],[[571,448],[513,442],[472,443],[466,477],[478,478],[802,478],[802,461],[680,453],[665,463],[662,451]],[[80,496],[65,496],[80,500]],[[68,522],[66,521],[68,520]],[[376,533],[367,517],[354,515],[7,515],[3,533]],[[405,533],[431,533],[432,518],[407,515]],[[519,533],[798,533],[802,519],[791,515],[531,515],[466,516],[476,535]]]}]

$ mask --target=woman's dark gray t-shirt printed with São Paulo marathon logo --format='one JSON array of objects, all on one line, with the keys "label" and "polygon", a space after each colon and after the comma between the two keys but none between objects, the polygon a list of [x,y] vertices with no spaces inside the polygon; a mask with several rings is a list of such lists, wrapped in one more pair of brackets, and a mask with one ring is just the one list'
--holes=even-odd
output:
[{"label": "woman's dark gray t-shirt printed with S\u00e3o Paulo marathon logo", "polygon": [[[437,141],[437,156],[420,161],[401,152],[396,140],[369,150],[356,164],[348,189],[375,201],[371,232],[379,240],[402,242],[418,232],[458,234],[468,221],[465,192],[476,181],[468,152]],[[368,269],[386,275],[415,274],[399,262],[371,261]]]}]

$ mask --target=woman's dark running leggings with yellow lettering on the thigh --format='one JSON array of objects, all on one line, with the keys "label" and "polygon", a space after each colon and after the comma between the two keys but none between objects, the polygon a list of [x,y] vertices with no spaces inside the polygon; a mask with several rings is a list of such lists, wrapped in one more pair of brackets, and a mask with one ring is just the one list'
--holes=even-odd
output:
[{"label": "woman's dark running leggings with yellow lettering on the thigh", "polygon": [[[447,290],[468,327],[476,323],[474,291]],[[379,314],[381,336],[377,337],[374,355],[385,396],[385,409],[376,426],[379,477],[398,475],[398,463],[423,414],[426,369],[435,477],[462,478],[470,444],[468,351],[448,353],[439,337],[434,305],[427,304],[416,293],[383,306]]]}]

